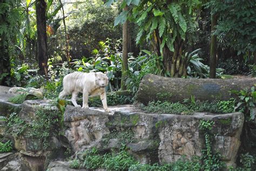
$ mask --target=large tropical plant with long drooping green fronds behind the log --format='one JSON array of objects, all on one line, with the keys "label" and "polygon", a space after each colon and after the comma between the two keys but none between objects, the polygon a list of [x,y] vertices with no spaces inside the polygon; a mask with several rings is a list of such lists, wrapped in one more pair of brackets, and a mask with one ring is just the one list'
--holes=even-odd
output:
[{"label": "large tropical plant with long drooping green fronds behind the log", "polygon": [[[110,0],[107,4],[112,4]],[[186,45],[193,42],[196,30],[194,9],[198,0],[190,1],[123,1],[121,6],[135,4],[130,11],[123,11],[114,25],[124,23],[127,18],[138,24],[136,43],[150,40],[157,57],[161,57],[164,73],[171,77],[186,76]],[[189,60],[188,60],[189,61]]]}]

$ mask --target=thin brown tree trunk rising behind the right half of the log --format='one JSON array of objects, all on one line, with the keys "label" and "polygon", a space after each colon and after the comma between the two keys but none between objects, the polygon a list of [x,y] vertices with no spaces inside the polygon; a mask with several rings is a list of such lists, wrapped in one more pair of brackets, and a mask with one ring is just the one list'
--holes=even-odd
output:
[{"label": "thin brown tree trunk rising behind the right half of the log", "polygon": [[[217,24],[217,14],[211,15],[211,31],[215,30]],[[216,78],[216,60],[217,60],[217,36],[211,36],[211,54],[210,54],[210,78]]]}]

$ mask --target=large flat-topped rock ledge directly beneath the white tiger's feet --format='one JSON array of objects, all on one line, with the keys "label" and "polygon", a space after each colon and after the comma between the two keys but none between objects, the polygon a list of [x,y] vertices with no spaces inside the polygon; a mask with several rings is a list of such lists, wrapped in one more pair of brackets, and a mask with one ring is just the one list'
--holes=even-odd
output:
[{"label": "large flat-topped rock ledge directly beneath the white tiger's feet", "polygon": [[110,109],[113,115],[98,109],[66,107],[64,122],[69,128],[65,136],[73,151],[91,147],[106,151],[125,143],[142,163],[173,162],[183,155],[190,159],[201,156],[205,146],[200,120],[213,120],[213,151],[220,152],[228,166],[235,166],[244,124],[242,113],[149,114],[130,105]]}]

